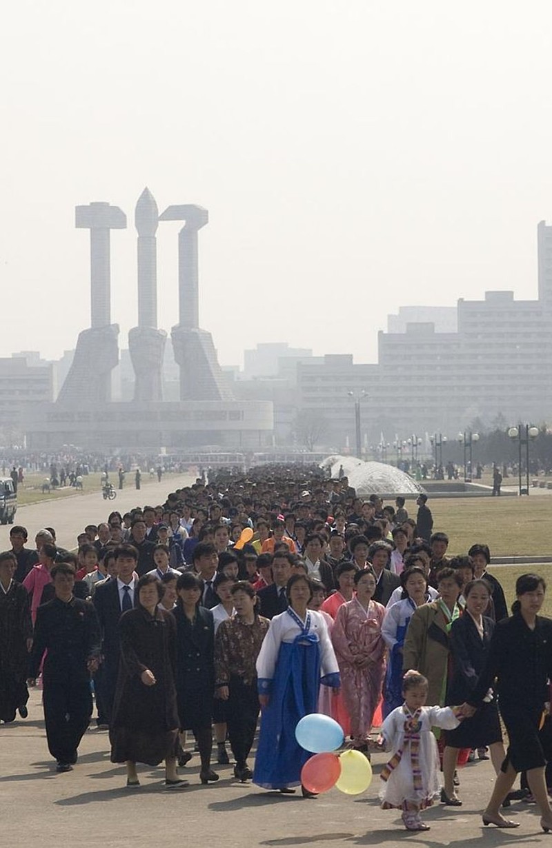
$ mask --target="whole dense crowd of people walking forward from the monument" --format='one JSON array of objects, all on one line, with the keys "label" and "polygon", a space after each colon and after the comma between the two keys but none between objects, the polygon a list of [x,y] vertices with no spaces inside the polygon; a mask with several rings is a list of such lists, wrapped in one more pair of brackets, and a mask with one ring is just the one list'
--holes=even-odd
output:
[{"label": "whole dense crowd of people walking forward from the monument", "polygon": [[76,533],[75,551],[53,527],[28,547],[14,525],[0,554],[0,720],[27,717],[40,681],[58,772],[75,765],[95,703],[129,788],[138,763],[161,762],[166,788],[184,788],[194,752],[214,783],[229,746],[237,780],[310,797],[295,728],[324,712],[364,756],[391,751],[380,797],[409,830],[428,827],[434,801],[462,805],[457,767],[475,756],[498,775],[485,824],[517,825],[501,805],[522,773],[552,829],[544,580],[520,577],[509,616],[487,544],[474,536],[448,557],[426,501],[409,515],[403,498],[358,498],[346,477],[263,468],[114,510]]}]

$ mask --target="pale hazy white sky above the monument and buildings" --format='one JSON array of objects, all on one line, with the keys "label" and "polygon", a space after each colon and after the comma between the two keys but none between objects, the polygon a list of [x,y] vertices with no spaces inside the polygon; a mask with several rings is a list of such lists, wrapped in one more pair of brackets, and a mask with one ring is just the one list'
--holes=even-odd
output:
[{"label": "pale hazy white sky above the monument and buildings", "polygon": [[[109,201],[112,321],[137,323],[134,204],[209,209],[200,323],[223,365],[287,341],[375,361],[406,304],[537,293],[552,220],[549,0],[17,0],[0,31],[0,355],[89,326]],[[176,223],[158,231],[177,322]]]}]

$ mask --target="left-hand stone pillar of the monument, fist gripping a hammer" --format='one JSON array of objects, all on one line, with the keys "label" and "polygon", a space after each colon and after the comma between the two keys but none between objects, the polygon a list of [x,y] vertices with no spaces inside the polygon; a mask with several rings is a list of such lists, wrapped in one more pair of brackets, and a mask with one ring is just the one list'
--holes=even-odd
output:
[{"label": "left-hand stone pillar of the monument, fist gripping a hammer", "polygon": [[119,362],[119,325],[111,324],[110,230],[124,230],[118,206],[77,206],[75,226],[90,230],[90,328],[82,330],[58,404],[97,405],[111,399],[111,371]]}]

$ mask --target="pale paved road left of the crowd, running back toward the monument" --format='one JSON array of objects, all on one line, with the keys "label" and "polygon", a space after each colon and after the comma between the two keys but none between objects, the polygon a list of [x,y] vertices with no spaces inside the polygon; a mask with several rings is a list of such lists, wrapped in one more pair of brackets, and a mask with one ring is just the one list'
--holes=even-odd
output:
[{"label": "pale paved road left of the crowd, running back toward the monument", "polygon": [[[189,474],[166,474],[161,483],[145,479],[138,492],[133,486],[117,491],[115,500],[104,500],[100,491],[93,494],[75,494],[69,498],[48,500],[43,503],[20,506],[15,522],[22,524],[29,532],[29,547],[34,547],[34,537],[41,527],[55,527],[58,544],[71,550],[76,547],[76,534],[82,533],[87,524],[107,521],[111,510],[127,512],[132,506],[153,506],[164,503],[166,495],[175,488],[194,483]],[[9,544],[9,526],[0,525],[0,550],[6,550]]]}]

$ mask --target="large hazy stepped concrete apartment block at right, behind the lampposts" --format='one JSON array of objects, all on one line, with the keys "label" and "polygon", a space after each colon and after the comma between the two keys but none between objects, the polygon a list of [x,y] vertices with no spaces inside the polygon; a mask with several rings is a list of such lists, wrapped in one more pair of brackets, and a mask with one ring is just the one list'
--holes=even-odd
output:
[{"label": "large hazy stepped concrete apartment block at right, behind the lampposts", "polygon": [[490,423],[552,418],[552,315],[539,300],[486,292],[458,302],[458,332],[432,323],[378,337],[380,400],[395,432],[455,435]]}]

